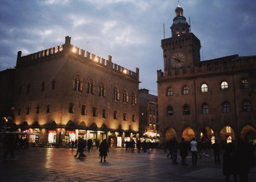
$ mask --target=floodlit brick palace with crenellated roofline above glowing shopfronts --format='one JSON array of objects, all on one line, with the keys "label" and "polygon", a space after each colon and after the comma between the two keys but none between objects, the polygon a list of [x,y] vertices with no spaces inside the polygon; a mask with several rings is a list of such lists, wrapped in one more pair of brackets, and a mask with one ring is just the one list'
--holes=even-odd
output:
[{"label": "floodlit brick palace with crenellated roofline above glowing shopfronts", "polygon": [[[80,52],[80,53],[79,53]],[[71,45],[27,56],[18,52],[12,107],[21,131],[39,132],[36,143],[83,137],[121,147],[138,137],[139,69],[127,70]],[[32,142],[32,141],[31,141]]]}]

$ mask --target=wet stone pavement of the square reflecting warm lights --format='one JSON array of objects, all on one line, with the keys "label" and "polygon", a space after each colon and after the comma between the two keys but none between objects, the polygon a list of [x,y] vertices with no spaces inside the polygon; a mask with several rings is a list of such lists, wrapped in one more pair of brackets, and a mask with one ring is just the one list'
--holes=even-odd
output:
[{"label": "wet stone pavement of the square reflecting warm lights", "polygon": [[[3,153],[3,149],[0,149]],[[222,162],[214,164],[213,151],[210,158],[198,159],[192,166],[172,164],[167,151],[154,149],[148,153],[131,153],[125,148],[110,148],[107,162],[100,163],[99,152],[93,148],[85,151],[82,160],[74,157],[76,150],[70,148],[38,148],[16,150],[17,160],[0,162],[1,182],[225,182]],[[179,151],[178,151],[179,154]],[[222,158],[223,151],[221,152]],[[10,155],[10,154],[9,154]],[[9,157],[7,156],[7,158]],[[256,168],[249,173],[250,182],[256,182]],[[230,177],[230,182],[234,181]]]}]

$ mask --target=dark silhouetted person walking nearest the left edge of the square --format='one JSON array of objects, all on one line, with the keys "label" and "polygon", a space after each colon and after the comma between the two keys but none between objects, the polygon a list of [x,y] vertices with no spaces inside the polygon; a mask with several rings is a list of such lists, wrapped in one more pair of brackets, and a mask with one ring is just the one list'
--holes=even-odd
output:
[{"label": "dark silhouetted person walking nearest the left edge of the square", "polygon": [[3,160],[6,160],[7,155],[10,152],[11,160],[16,160],[17,158],[14,156],[14,134],[5,134],[3,138],[3,145],[5,146],[5,152],[3,153]]}]

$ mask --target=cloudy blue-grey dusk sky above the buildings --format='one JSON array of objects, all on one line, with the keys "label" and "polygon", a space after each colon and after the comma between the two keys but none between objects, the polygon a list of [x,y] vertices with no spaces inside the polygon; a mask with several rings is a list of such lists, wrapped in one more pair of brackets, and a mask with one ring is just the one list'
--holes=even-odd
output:
[{"label": "cloudy blue-grey dusk sky above the buildings", "polygon": [[[201,61],[256,55],[255,0],[180,0]],[[171,37],[177,0],[0,0],[0,71],[22,56],[71,44],[136,72],[157,95],[161,40]],[[164,34],[165,32],[165,34]]]}]

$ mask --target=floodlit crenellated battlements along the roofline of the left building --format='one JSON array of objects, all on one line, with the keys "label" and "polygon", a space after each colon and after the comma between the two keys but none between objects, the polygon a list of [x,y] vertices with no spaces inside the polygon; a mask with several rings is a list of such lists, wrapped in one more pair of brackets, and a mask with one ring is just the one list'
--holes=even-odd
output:
[{"label": "floodlit crenellated battlements along the roofline of the left building", "polygon": [[91,54],[88,51],[86,51],[86,55],[85,55],[85,50],[83,49],[80,50],[80,54],[79,54],[79,50],[80,48],[76,46],[74,47],[73,45],[71,45],[71,37],[67,36],[65,44],[55,46],[53,48],[45,49],[37,53],[21,56],[22,52],[18,51],[16,67],[29,65],[31,63],[36,63],[42,60],[46,60],[51,58],[52,56],[59,56],[62,54],[71,54],[71,55],[77,56],[78,58],[81,58],[84,61],[88,61],[95,65],[102,66],[108,70],[130,77],[134,80],[137,80],[137,81],[139,80],[139,68],[136,68],[136,72],[134,72],[134,71],[128,70],[127,68],[124,68],[122,66],[112,63],[112,56],[110,55],[108,56],[108,60],[106,60],[95,54]]}]

